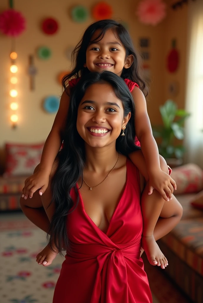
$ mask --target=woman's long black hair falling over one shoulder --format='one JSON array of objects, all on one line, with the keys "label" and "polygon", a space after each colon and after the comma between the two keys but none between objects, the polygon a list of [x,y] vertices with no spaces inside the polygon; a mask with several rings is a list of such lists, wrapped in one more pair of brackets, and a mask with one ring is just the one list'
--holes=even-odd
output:
[{"label": "woman's long black hair falling over one shoulder", "polygon": [[[82,77],[71,92],[66,128],[63,136],[63,149],[58,154],[59,163],[52,181],[52,201],[55,202],[56,210],[50,223],[50,230],[48,231],[50,236],[47,235],[47,238],[51,248],[53,249],[55,245],[59,252],[69,248],[66,220],[68,220],[69,210],[73,206],[70,190],[75,188],[78,194],[76,183],[83,175],[85,163],[85,142],[80,137],[76,128],[78,106],[85,95],[86,89],[98,82],[109,83],[111,85],[115,96],[123,104],[124,117],[131,112],[125,136],[119,136],[116,140],[116,150],[127,156],[130,152],[140,149],[134,144],[134,101],[124,80],[108,71],[88,73]],[[73,209],[75,208],[73,207]]]}]

